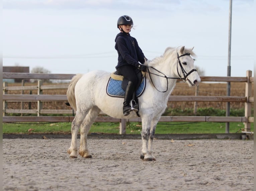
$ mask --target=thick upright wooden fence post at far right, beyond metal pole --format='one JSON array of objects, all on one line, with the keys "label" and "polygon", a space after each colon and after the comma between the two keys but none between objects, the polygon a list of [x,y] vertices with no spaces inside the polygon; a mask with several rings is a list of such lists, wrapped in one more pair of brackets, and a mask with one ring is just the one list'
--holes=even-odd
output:
[{"label": "thick upright wooden fence post at far right, beyond metal pole", "polygon": [[252,83],[250,82],[250,77],[252,76],[252,71],[246,71],[247,82],[245,83],[245,96],[247,101],[245,102],[245,117],[246,122],[244,122],[244,131],[251,131],[251,123],[249,122],[249,117],[251,116],[252,103],[249,102],[249,97],[252,95]]}]

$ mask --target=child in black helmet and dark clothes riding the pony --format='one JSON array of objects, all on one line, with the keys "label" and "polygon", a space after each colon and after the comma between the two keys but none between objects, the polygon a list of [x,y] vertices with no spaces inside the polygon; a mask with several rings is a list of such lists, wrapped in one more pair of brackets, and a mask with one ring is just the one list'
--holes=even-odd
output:
[{"label": "child in black helmet and dark clothes riding the pony", "polygon": [[[140,49],[137,40],[129,34],[132,26],[133,21],[131,17],[127,15],[119,17],[117,21],[117,28],[120,30],[120,33],[118,33],[115,38],[115,49],[118,53],[118,64],[116,66],[116,70],[129,81],[124,96],[124,116],[129,115],[132,111],[130,101],[137,83],[140,83],[138,82],[136,74],[140,71],[145,72],[147,70],[147,67],[143,65],[146,58]],[[133,107],[138,108],[138,106]]]}]

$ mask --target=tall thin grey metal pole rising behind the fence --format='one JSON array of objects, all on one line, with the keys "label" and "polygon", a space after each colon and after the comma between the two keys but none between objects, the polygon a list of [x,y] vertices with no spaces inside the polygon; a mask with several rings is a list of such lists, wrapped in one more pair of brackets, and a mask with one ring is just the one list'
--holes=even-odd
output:
[{"label": "tall thin grey metal pole rising behind the fence", "polygon": [[[232,23],[232,0],[229,0],[229,42],[228,42],[228,68],[227,76],[231,76],[231,23]],[[230,96],[230,82],[227,82],[227,96]],[[230,102],[227,102],[226,116],[230,115]],[[229,122],[226,122],[226,133],[229,133]]]}]

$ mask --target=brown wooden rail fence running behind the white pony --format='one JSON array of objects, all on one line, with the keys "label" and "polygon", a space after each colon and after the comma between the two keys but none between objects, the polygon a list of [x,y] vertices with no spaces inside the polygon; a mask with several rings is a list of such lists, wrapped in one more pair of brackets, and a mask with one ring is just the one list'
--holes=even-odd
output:
[{"label": "brown wooden rail fence running behind the white pony", "polygon": [[[31,73],[3,73],[3,79],[54,79],[70,80],[75,74],[31,74]],[[252,96],[252,71],[246,71],[246,77],[201,77],[201,82],[243,82],[245,83],[245,96],[170,96],[168,101],[218,101],[218,102],[244,102],[245,116],[161,116],[159,122],[243,122],[244,131],[251,131],[251,106],[254,102]],[[67,101],[66,95],[42,95],[43,90],[67,89],[68,85],[42,85],[39,80],[37,86],[8,87],[3,83],[3,122],[71,122],[74,116],[40,116],[40,114],[72,114],[72,109],[55,110],[42,109],[42,101]],[[37,95],[8,95],[13,90],[37,90]],[[8,101],[36,101],[37,109],[8,109]],[[37,116],[6,116],[7,113],[33,113]],[[120,134],[125,134],[126,120],[110,116],[98,116],[95,122],[119,122]],[[140,118],[130,119],[129,122],[141,122]]]}]

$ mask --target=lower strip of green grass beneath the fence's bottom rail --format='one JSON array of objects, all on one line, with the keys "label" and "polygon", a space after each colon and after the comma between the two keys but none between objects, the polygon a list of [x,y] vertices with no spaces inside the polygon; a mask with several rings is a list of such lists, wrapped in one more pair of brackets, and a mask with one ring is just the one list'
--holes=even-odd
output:
[{"label": "lower strip of green grass beneath the fence's bottom rail", "polygon": [[[156,127],[156,134],[192,134],[192,133],[225,133],[226,123],[219,122],[159,122]],[[251,131],[254,130],[253,123]],[[230,133],[241,132],[243,123],[230,123]],[[3,134],[29,133],[28,129],[34,129],[32,133],[71,133],[70,122],[59,123],[3,123]],[[126,134],[140,134],[141,123],[128,122]],[[119,123],[97,122],[93,123],[90,133],[115,133],[119,134]]]}]

